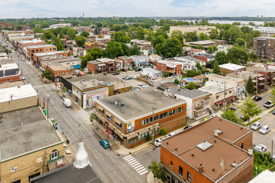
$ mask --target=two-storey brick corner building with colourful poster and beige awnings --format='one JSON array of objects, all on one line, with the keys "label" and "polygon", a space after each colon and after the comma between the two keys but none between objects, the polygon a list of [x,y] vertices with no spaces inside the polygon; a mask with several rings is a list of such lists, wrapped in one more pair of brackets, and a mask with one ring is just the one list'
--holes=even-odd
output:
[{"label": "two-storey brick corner building with colourful poster and beige awnings", "polygon": [[155,88],[148,87],[97,99],[95,114],[104,125],[109,119],[111,135],[123,146],[132,146],[147,134],[157,135],[162,128],[170,130],[186,123],[186,101],[156,94]]}]

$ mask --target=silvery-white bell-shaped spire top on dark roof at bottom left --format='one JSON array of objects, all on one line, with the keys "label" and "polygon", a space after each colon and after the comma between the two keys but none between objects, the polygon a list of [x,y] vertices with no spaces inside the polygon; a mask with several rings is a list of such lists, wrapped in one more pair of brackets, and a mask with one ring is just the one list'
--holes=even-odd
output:
[{"label": "silvery-white bell-shaped spire top on dark roof at bottom left", "polygon": [[74,167],[84,168],[90,164],[88,153],[84,149],[84,143],[79,143],[78,151],[75,155]]}]

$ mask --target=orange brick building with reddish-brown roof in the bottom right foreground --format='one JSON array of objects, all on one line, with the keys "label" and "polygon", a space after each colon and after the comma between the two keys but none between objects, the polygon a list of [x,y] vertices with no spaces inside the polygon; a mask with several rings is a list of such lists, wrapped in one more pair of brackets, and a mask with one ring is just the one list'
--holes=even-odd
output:
[{"label": "orange brick building with reddish-brown roof in the bottom right foreground", "polygon": [[252,137],[250,129],[215,116],[165,138],[160,160],[166,182],[250,181],[254,160],[250,149]]}]

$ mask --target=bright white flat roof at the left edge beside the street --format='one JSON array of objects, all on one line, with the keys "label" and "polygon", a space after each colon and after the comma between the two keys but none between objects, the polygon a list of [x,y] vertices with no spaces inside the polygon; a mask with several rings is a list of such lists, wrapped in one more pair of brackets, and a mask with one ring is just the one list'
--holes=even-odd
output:
[{"label": "bright white flat roof at the left edge beside the street", "polygon": [[37,96],[35,89],[31,86],[31,84],[21,85],[18,87],[9,87],[0,89],[0,103],[7,102],[11,100],[18,100],[22,98],[27,98],[31,96]]}]

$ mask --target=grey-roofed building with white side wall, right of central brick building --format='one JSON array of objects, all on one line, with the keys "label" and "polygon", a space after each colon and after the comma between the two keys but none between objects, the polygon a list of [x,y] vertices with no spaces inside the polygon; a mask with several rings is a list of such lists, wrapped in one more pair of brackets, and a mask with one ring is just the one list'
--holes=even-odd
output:
[{"label": "grey-roofed building with white side wall, right of central brick building", "polygon": [[173,88],[166,93],[186,100],[186,116],[190,119],[199,120],[214,113],[211,107],[212,94],[209,92]]}]

